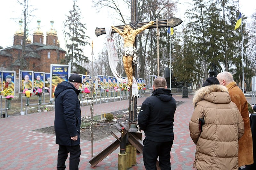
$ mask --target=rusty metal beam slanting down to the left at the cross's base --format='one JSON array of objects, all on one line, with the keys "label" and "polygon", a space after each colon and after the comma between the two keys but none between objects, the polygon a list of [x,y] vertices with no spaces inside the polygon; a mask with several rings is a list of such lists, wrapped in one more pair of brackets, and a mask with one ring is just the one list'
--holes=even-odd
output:
[{"label": "rusty metal beam slanting down to the left at the cross's base", "polygon": [[[121,138],[119,138],[119,140],[121,140]],[[120,146],[120,142],[116,140],[115,142],[110,144],[108,147],[103,149],[99,154],[92,157],[89,160],[89,163],[91,164],[92,167],[96,166],[98,163],[100,163],[100,161],[106,158],[110,153],[114,152],[119,146]]]}]

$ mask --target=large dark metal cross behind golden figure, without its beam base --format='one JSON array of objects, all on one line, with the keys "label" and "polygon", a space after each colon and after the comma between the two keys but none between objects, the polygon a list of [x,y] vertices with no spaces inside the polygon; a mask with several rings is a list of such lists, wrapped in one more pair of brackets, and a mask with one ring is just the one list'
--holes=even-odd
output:
[{"label": "large dark metal cross behind golden figure, without its beam base", "polygon": [[[145,22],[138,22],[138,0],[131,0],[131,22],[130,22],[130,26],[133,29],[137,29],[142,27],[145,24],[148,24],[149,21],[145,21]],[[178,26],[182,23],[182,20],[180,20],[179,18],[174,18],[171,17],[169,19],[159,19],[157,21],[157,26],[160,27],[175,27]],[[123,31],[125,25],[119,25],[119,26],[115,26],[117,28],[119,28],[121,31]],[[152,26],[149,26],[147,29],[152,29],[152,28],[156,28],[156,20],[154,21],[154,24]],[[115,30],[112,30],[112,33],[116,33]],[[99,35],[103,35],[106,34],[106,30],[105,28],[96,28],[95,29],[95,34],[96,36]],[[134,46],[137,47],[137,41],[134,42]],[[133,68],[133,73],[132,75],[135,77],[135,79],[137,79],[137,68],[134,64],[132,64],[132,68]],[[135,122],[137,119],[137,97],[132,97],[131,95],[131,90],[130,90],[130,102],[129,102],[129,121],[130,122]]]}]

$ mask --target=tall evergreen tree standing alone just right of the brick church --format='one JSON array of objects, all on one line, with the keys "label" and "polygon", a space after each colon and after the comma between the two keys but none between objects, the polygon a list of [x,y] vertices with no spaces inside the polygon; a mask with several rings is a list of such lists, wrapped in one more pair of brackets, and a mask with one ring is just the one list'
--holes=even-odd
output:
[{"label": "tall evergreen tree standing alone just right of the brick church", "polygon": [[85,35],[85,24],[81,23],[81,11],[76,5],[77,0],[73,0],[73,9],[69,11],[69,15],[64,23],[64,35],[66,41],[66,61],[71,62],[71,72],[73,69],[78,73],[85,73],[86,69],[83,67],[83,63],[88,63],[88,57],[84,55],[83,46],[90,45],[87,42],[89,38]]}]

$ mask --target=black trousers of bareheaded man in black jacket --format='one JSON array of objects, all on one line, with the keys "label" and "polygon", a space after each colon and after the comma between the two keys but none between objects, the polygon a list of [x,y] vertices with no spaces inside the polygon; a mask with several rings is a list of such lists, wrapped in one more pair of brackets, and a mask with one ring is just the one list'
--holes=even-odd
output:
[{"label": "black trousers of bareheaded man in black jacket", "polygon": [[156,170],[156,160],[159,157],[159,166],[163,170],[171,170],[171,149],[173,141],[153,142],[143,140],[143,162],[146,170]]}]

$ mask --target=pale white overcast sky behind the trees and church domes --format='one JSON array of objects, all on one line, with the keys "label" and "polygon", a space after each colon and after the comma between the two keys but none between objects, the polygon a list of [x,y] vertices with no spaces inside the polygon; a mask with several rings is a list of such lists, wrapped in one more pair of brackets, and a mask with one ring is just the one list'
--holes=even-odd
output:
[{"label": "pale white overcast sky behind the trees and church domes", "polygon": [[[21,0],[23,1],[23,0]],[[190,0],[180,0],[178,5],[178,12],[175,17],[180,18],[186,22],[184,17],[184,11],[186,10],[186,2]],[[40,3],[39,3],[40,2]],[[29,23],[29,38],[33,40],[33,31],[37,27],[37,20],[41,20],[41,29],[46,36],[46,31],[50,29],[50,21],[54,21],[53,27],[58,31],[58,39],[60,41],[60,47],[65,50],[65,42],[63,38],[63,22],[68,15],[68,11],[72,10],[72,0],[29,0],[30,10],[36,9],[32,12],[34,15]],[[253,10],[256,9],[254,0],[240,0],[240,10],[246,16],[251,16]],[[107,10],[101,10],[97,13],[97,10],[92,8],[91,0],[78,0],[78,6],[81,9],[81,16],[84,18],[83,23],[86,23],[86,35],[90,37],[89,42],[93,41],[94,58],[98,57],[98,52],[101,51],[106,36],[101,35],[95,36],[96,27],[105,27],[111,25],[120,25],[120,22],[116,23],[111,18],[111,13]],[[130,7],[123,7],[130,16]],[[19,20],[22,17],[22,7],[17,3],[17,0],[1,0],[1,26],[0,26],[0,46],[3,48],[10,47],[13,45],[13,35],[19,28]],[[46,40],[44,40],[44,44]],[[91,59],[92,47],[85,47],[84,53]]]}]

